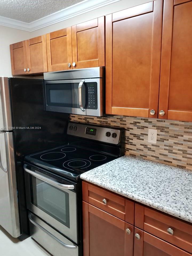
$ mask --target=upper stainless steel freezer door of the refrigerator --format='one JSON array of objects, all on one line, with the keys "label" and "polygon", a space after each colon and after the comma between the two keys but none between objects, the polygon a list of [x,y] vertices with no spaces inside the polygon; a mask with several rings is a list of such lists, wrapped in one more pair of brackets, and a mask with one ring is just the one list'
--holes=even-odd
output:
[{"label": "upper stainless steel freezer door of the refrigerator", "polygon": [[12,128],[9,82],[7,77],[0,77],[0,131]]}]

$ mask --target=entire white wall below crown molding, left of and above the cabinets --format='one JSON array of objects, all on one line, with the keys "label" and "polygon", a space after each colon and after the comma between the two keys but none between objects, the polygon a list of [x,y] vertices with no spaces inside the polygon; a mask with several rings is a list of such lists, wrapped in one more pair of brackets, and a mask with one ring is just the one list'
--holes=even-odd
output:
[{"label": "entire white wall below crown molding, left of and above the cabinets", "polygon": [[124,10],[126,8],[150,1],[153,0],[121,0],[116,3],[101,7],[97,10],[78,15],[74,18],[67,19],[66,21],[47,26],[43,29],[39,29],[33,32],[0,26],[0,76],[11,77],[11,61],[9,50],[10,44],[33,38],[38,35],[43,35],[55,30],[63,29],[65,27],[73,26],[84,21],[89,21],[90,19],[101,17],[103,15],[114,13],[116,11]]}]

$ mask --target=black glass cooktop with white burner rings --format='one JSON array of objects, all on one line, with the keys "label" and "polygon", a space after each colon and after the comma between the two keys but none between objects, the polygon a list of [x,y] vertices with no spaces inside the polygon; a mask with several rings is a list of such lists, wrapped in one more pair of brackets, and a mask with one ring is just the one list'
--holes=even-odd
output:
[{"label": "black glass cooktop with white burner rings", "polygon": [[82,173],[114,159],[116,157],[70,145],[25,157],[27,162],[73,179],[78,179]]}]

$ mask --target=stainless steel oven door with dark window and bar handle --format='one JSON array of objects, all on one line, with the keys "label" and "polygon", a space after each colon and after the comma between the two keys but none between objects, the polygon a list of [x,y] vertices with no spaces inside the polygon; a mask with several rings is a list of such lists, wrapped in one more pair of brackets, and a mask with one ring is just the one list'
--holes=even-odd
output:
[{"label": "stainless steel oven door with dark window and bar handle", "polygon": [[78,243],[75,183],[24,165],[27,209]]}]

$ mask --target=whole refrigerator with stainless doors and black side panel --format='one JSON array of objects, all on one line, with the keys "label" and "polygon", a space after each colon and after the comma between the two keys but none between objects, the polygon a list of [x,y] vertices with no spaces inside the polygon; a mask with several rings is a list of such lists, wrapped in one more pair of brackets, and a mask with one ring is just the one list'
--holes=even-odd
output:
[{"label": "whole refrigerator with stainless doors and black side panel", "polygon": [[65,144],[67,123],[45,110],[43,79],[0,77],[0,225],[13,237],[29,236],[23,159]]}]

